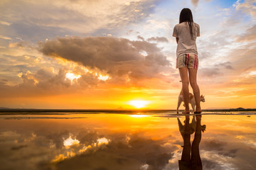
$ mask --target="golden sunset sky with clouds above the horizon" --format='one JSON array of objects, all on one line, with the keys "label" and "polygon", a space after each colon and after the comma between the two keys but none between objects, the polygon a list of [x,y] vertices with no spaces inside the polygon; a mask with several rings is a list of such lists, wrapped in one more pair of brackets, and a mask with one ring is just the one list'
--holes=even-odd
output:
[{"label": "golden sunset sky with clouds above the horizon", "polygon": [[256,108],[255,0],[1,0],[0,107],[175,109],[182,8],[202,108]]}]

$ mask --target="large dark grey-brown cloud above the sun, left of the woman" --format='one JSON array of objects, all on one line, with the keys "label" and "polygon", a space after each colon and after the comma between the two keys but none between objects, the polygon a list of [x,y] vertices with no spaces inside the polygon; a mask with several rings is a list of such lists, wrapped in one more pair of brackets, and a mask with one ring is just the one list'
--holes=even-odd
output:
[{"label": "large dark grey-brown cloud above the sun, left of the woman", "polygon": [[62,57],[90,69],[105,71],[111,77],[150,79],[159,77],[159,67],[169,66],[156,44],[124,38],[58,38],[41,42],[39,51],[43,55]]}]

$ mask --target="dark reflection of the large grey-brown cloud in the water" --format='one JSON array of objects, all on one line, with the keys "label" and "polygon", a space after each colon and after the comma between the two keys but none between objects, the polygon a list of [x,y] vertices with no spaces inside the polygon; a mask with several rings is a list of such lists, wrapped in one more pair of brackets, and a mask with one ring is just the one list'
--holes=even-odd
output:
[{"label": "dark reflection of the large grey-brown cloud in the water", "polygon": [[[102,147],[102,145],[107,145],[107,147]],[[78,145],[76,146],[78,147]],[[99,166],[101,169],[122,169],[125,166],[129,169],[160,170],[169,163],[169,159],[172,159],[170,150],[166,152],[168,147],[161,146],[160,141],[139,137],[139,135],[129,136],[129,140],[125,135],[122,135],[122,137],[113,135],[110,139],[101,137],[91,145],[86,146],[80,143],[80,150],[73,147],[72,150],[60,153],[55,157],[55,160],[60,161],[59,164],[55,164],[55,168],[67,169],[71,165],[75,166],[74,162],[77,162],[76,164],[79,164],[78,169],[80,167],[83,169],[97,169]],[[77,156],[70,157],[70,155],[74,156],[74,153],[77,153]],[[97,161],[99,158],[100,162]],[[62,162],[64,159],[65,161]]]}]

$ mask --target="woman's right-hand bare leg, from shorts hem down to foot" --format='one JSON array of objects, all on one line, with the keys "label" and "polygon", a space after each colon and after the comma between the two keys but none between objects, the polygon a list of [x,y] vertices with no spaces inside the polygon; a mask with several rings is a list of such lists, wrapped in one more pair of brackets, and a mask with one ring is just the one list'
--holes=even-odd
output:
[{"label": "woman's right-hand bare leg, from shorts hem down to foot", "polygon": [[200,89],[198,87],[197,81],[196,81],[196,74],[197,69],[188,69],[189,74],[189,81],[191,83],[191,87],[193,89],[193,94],[195,96],[196,100],[196,113],[201,113],[201,106],[200,106]]}]

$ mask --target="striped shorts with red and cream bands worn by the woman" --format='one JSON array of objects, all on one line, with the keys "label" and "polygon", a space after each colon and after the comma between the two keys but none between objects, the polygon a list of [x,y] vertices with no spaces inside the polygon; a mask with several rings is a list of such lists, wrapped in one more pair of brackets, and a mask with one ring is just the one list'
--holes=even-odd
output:
[{"label": "striped shorts with red and cream bands worn by the woman", "polygon": [[176,68],[192,68],[198,69],[198,57],[195,54],[184,54],[180,55],[176,59]]}]

